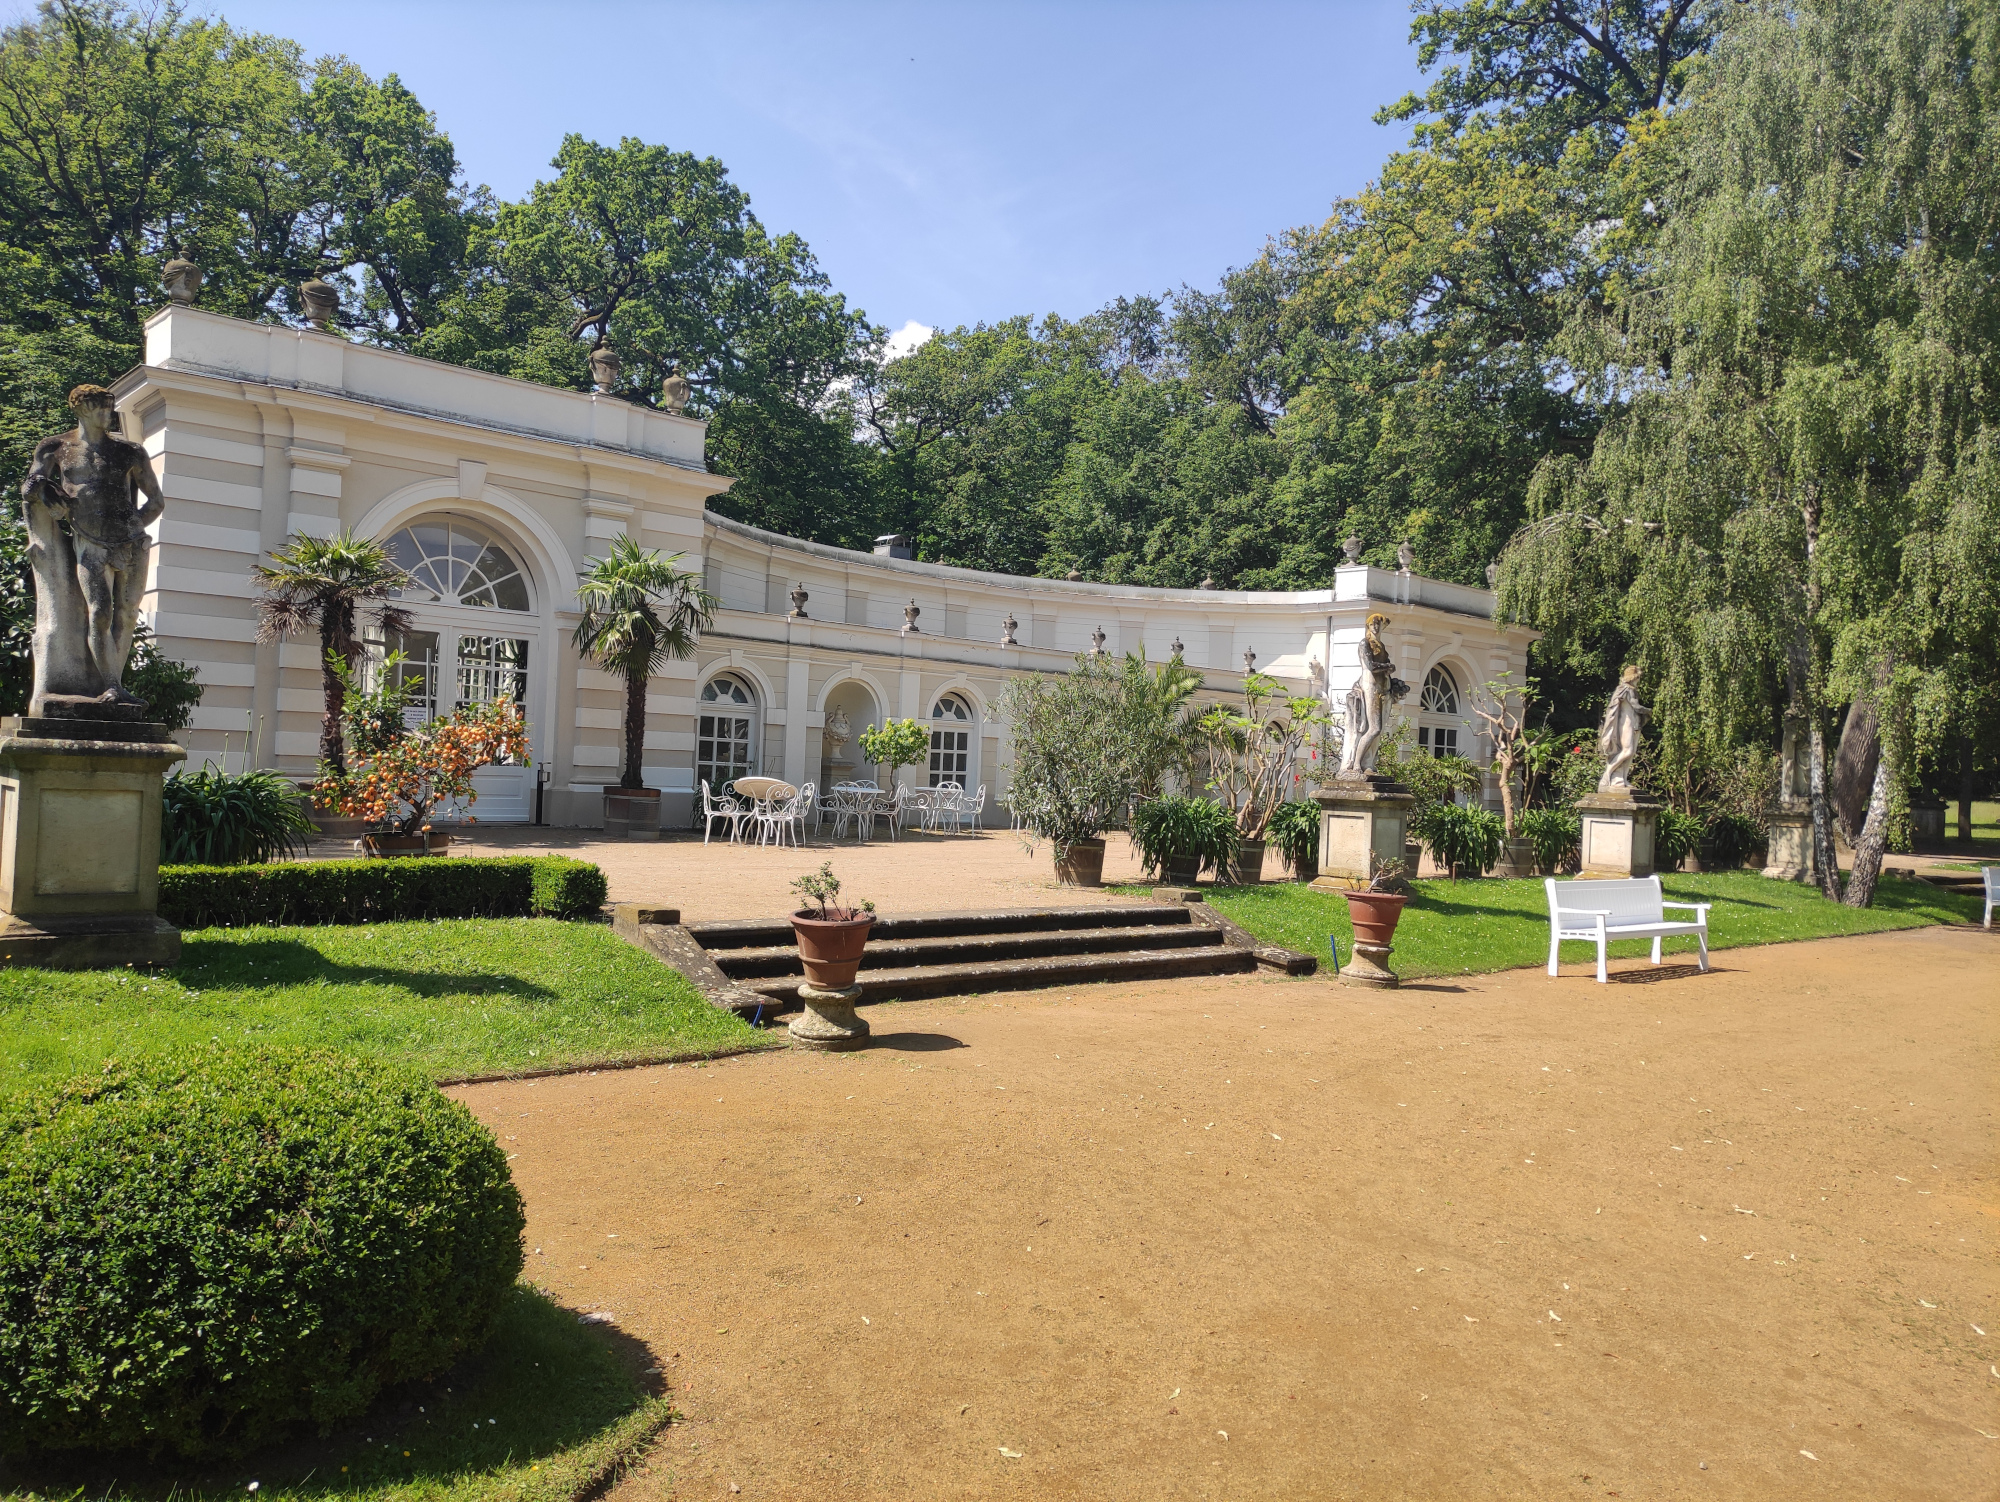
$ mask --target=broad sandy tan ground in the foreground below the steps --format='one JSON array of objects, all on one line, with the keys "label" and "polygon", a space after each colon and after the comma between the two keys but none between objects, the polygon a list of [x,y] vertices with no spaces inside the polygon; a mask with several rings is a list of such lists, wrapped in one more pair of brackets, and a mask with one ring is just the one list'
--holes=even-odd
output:
[{"label": "broad sandy tan ground in the foreground below the steps", "polygon": [[2000,936],[1614,980],[922,1002],[458,1094],[530,1276],[684,1414],[614,1502],[2000,1494]]}]

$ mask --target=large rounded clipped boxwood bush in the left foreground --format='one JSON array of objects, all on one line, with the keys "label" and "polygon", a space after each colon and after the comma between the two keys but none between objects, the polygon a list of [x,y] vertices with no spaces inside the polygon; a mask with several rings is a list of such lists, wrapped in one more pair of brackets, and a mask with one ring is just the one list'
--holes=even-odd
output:
[{"label": "large rounded clipped boxwood bush in the left foreground", "polygon": [[424,1076],[214,1048],[0,1104],[0,1452],[242,1454],[486,1340],[506,1154]]}]

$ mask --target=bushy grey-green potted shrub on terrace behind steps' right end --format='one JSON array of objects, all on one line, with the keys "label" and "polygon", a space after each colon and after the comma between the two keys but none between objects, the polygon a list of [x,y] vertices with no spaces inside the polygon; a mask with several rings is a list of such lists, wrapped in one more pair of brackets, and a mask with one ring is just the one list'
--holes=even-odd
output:
[{"label": "bushy grey-green potted shrub on terrace behind steps' right end", "polygon": [[1132,794],[1116,668],[1080,656],[1076,672],[1016,678],[1002,704],[1014,726],[1008,802],[1028,832],[1028,848],[1036,840],[1054,846],[1060,884],[1100,886],[1098,834]]}]

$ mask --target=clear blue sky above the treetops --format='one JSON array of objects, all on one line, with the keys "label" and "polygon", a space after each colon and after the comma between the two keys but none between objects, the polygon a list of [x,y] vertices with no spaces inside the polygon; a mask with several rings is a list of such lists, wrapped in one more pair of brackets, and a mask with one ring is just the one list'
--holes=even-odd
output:
[{"label": "clear blue sky above the treetops", "polygon": [[1210,286],[1372,178],[1418,82],[1404,0],[196,2],[402,74],[502,196],[568,130],[720,156],[888,328]]}]

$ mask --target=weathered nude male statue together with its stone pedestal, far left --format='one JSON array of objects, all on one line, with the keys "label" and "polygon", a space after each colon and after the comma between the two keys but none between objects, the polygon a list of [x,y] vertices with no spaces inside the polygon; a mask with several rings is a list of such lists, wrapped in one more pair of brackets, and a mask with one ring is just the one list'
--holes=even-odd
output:
[{"label": "weathered nude male statue together with its stone pedestal, far left", "polygon": [[[158,918],[160,780],[186,756],[124,688],[166,510],[146,450],[112,432],[102,386],[22,482],[34,570],[34,690],[0,722],[0,964],[170,964]],[[144,498],[144,504],[140,504]]]}]

